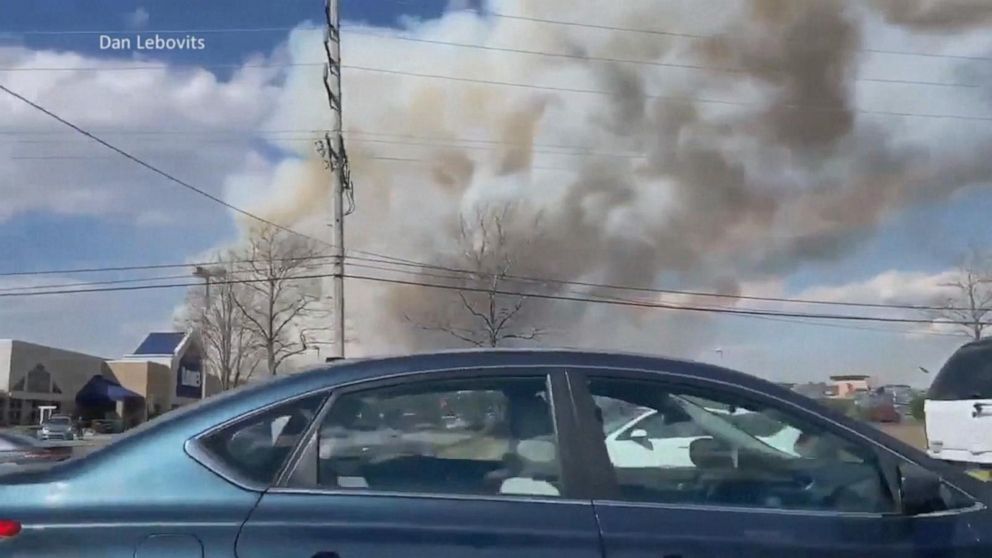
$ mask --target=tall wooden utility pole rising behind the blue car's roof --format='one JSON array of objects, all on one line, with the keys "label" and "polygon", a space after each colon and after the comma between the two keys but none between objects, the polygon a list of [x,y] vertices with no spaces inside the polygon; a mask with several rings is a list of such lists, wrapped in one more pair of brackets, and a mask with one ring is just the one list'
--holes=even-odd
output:
[{"label": "tall wooden utility pole rising behind the blue car's roof", "polygon": [[[344,358],[344,217],[355,209],[348,167],[348,154],[344,147],[343,113],[341,111],[341,5],[340,0],[324,0],[327,27],[324,31],[324,89],[331,109],[331,122],[324,137],[317,143],[317,151],[324,157],[331,174],[331,304],[334,315],[334,345],[337,356]],[[347,203],[347,207],[345,204]]]}]

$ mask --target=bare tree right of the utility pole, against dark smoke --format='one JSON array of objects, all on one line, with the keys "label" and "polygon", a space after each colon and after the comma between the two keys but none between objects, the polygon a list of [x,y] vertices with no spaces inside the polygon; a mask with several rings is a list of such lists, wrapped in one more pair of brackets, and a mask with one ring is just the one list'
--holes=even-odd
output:
[{"label": "bare tree right of the utility pole, against dark smoke", "polygon": [[[507,341],[534,340],[544,334],[539,327],[527,324],[526,296],[506,294],[514,290],[511,271],[523,239],[511,238],[508,223],[513,207],[484,208],[471,220],[459,222],[459,252],[453,267],[466,269],[464,290],[457,293],[454,310],[444,319],[425,321],[406,316],[408,321],[427,331],[439,331],[475,347],[499,347]],[[530,227],[530,233],[535,233]]]}]

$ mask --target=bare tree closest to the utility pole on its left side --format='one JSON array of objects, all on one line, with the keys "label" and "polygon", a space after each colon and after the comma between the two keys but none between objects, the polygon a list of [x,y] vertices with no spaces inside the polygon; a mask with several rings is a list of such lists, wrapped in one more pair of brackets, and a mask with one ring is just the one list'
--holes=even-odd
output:
[{"label": "bare tree closest to the utility pole on its left side", "polygon": [[286,359],[307,350],[307,335],[318,328],[304,322],[326,313],[314,275],[327,261],[316,242],[272,226],[253,230],[237,261],[245,296],[232,300],[275,375]]}]

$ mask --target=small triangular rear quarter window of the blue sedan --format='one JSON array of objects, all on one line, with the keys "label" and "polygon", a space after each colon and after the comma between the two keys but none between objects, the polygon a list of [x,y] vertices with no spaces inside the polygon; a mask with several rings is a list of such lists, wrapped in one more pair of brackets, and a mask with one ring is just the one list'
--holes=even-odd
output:
[{"label": "small triangular rear quarter window of the blue sedan", "polygon": [[277,405],[212,432],[201,445],[245,478],[271,484],[325,399],[315,395]]}]

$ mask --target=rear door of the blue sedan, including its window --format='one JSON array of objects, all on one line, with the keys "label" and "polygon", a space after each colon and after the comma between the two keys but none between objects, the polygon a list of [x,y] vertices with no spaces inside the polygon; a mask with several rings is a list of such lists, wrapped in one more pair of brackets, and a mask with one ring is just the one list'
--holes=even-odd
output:
[{"label": "rear door of the blue sedan, including its window", "polygon": [[238,557],[601,558],[563,381],[462,370],[334,393]]}]

